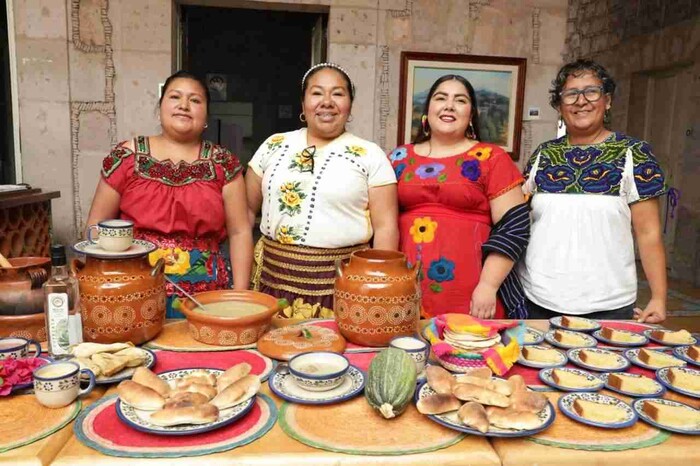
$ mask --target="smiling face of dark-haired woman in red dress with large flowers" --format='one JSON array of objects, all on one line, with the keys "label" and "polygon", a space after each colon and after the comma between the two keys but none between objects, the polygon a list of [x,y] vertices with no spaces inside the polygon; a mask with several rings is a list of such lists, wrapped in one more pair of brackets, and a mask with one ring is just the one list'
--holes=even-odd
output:
[{"label": "smiling face of dark-haired woman in red dress with large flowers", "polygon": [[464,84],[456,79],[440,83],[430,98],[428,124],[433,137],[464,137],[472,117],[472,102]]}]

